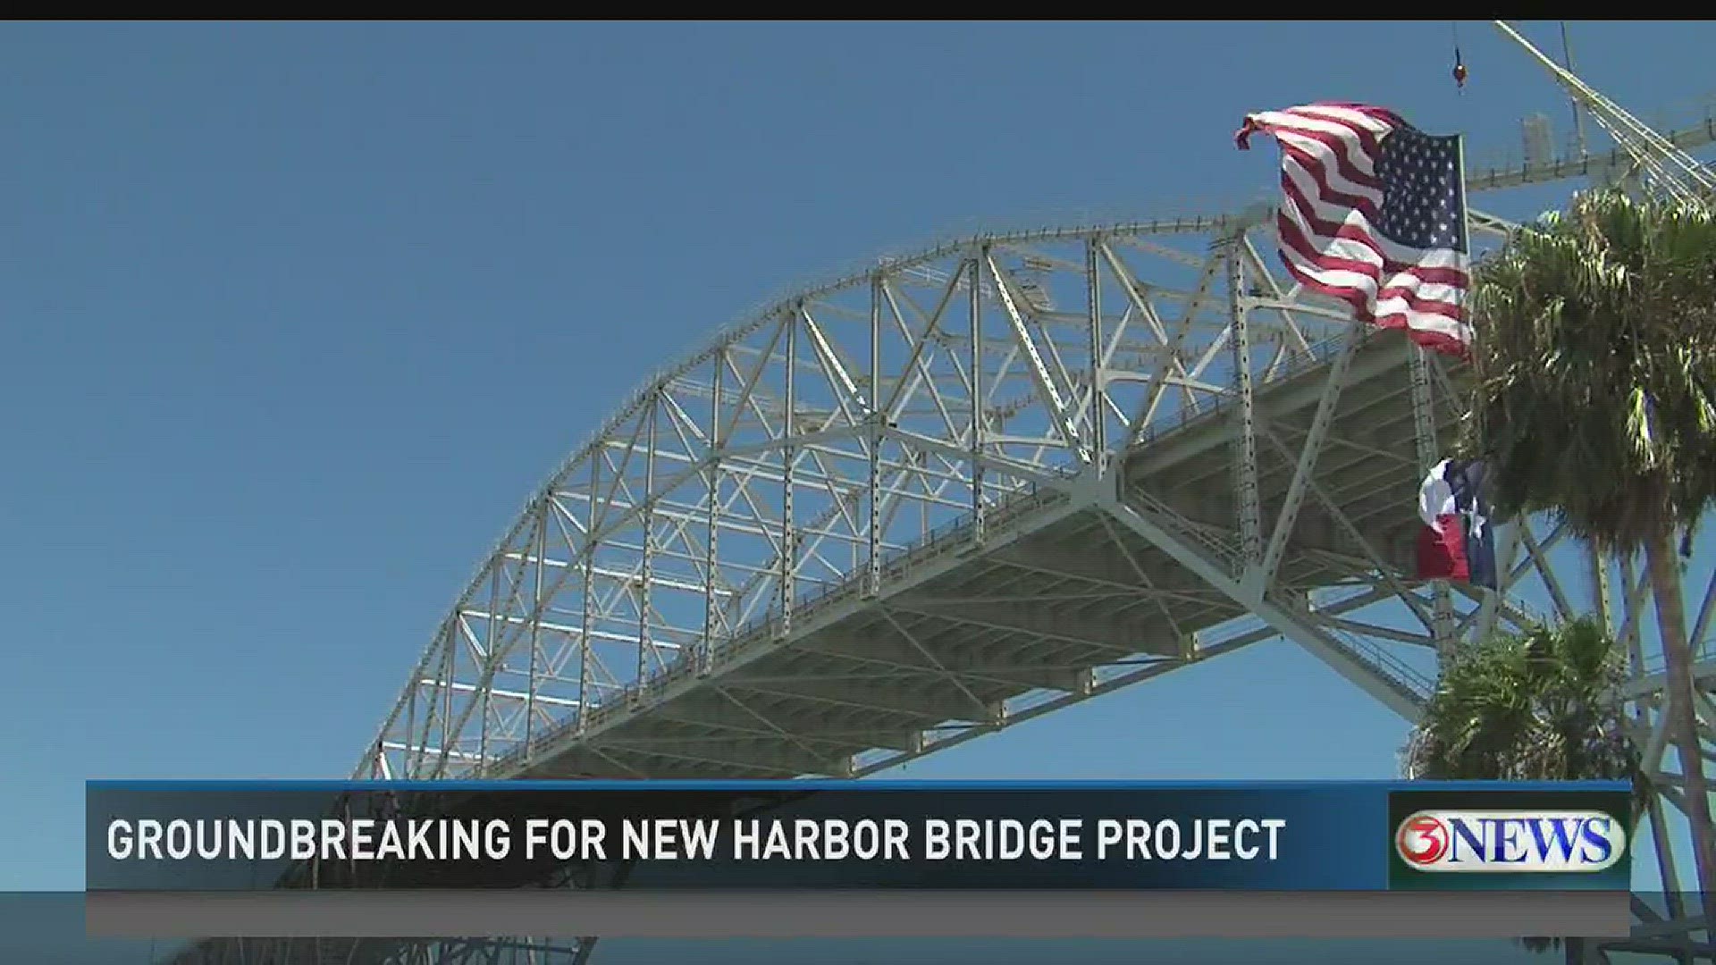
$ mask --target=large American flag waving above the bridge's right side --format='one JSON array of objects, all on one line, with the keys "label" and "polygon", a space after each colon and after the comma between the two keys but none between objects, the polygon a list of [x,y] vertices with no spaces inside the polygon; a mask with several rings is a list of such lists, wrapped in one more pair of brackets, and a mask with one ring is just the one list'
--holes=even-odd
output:
[{"label": "large American flag waving above the bridge's right side", "polygon": [[1424,134],[1392,110],[1326,103],[1246,117],[1241,149],[1253,132],[1282,146],[1287,271],[1350,304],[1359,321],[1464,355],[1472,328],[1460,137]]}]

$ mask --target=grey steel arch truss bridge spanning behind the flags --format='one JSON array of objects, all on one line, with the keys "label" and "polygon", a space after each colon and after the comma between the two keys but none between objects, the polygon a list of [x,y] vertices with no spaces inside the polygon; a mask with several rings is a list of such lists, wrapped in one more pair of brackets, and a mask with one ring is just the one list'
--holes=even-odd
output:
[{"label": "grey steel arch truss bridge spanning behind the flags", "polygon": [[[1709,144],[1716,118],[1673,137]],[[721,331],[530,496],[353,776],[863,776],[1280,637],[1412,719],[1438,651],[1601,606],[1673,805],[1642,574],[1520,520],[1502,598],[1409,582],[1469,374],[1285,280],[1268,215],[970,237]],[[1689,852],[1661,805],[1649,826],[1680,891]],[[1680,908],[1639,913],[1613,948],[1709,955]],[[594,941],[180,960],[583,962]]]}]

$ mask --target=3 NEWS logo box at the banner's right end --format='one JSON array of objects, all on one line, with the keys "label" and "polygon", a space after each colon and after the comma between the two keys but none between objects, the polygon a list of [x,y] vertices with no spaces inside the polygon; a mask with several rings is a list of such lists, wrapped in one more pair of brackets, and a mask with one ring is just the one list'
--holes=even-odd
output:
[{"label": "3 NEWS logo box at the banner's right end", "polygon": [[1395,888],[1627,888],[1630,800],[1613,792],[1395,792]]}]

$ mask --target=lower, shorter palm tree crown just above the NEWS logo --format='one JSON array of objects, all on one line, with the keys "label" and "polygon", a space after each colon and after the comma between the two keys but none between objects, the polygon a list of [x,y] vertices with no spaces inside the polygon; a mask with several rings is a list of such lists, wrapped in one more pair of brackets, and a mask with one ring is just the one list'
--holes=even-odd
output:
[{"label": "lower, shorter palm tree crown just above the NEWS logo", "polygon": [[[1469,781],[1630,780],[1634,814],[1649,783],[1625,731],[1625,651],[1598,620],[1498,634],[1455,652],[1405,749],[1405,776]],[[1582,941],[1524,938],[1532,951]]]}]

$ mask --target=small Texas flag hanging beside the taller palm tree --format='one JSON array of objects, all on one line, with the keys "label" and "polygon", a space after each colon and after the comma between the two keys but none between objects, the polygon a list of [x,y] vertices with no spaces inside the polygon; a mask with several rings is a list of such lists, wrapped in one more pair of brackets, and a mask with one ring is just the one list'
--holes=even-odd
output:
[{"label": "small Texas flag hanging beside the taller palm tree", "polygon": [[1417,579],[1496,589],[1496,544],[1483,500],[1484,462],[1445,458],[1417,491]]}]

